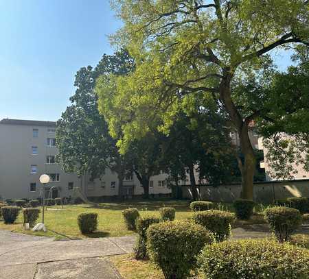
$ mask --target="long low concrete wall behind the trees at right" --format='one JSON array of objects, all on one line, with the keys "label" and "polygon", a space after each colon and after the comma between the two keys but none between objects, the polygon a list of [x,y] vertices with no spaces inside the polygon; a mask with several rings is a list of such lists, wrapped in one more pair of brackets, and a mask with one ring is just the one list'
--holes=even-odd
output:
[{"label": "long low concrete wall behind the trees at right", "polygon": [[[181,186],[182,197],[190,199],[190,186]],[[233,202],[240,197],[240,184],[226,186],[199,186],[201,199],[214,202]],[[271,203],[273,199],[309,197],[309,180],[258,182],[254,184],[256,202]]]}]

